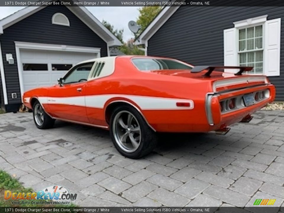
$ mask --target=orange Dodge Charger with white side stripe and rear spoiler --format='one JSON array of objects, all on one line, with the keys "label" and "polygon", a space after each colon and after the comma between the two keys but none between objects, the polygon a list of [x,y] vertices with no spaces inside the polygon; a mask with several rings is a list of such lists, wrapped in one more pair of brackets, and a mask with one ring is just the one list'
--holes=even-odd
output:
[{"label": "orange Dodge Charger with white side stripe and rear spoiler", "polygon": [[252,69],[102,57],[75,65],[57,85],[25,92],[23,102],[40,129],[56,119],[109,129],[122,155],[139,158],[156,145],[155,132],[226,133],[249,122],[275,98],[266,76],[246,75]]}]

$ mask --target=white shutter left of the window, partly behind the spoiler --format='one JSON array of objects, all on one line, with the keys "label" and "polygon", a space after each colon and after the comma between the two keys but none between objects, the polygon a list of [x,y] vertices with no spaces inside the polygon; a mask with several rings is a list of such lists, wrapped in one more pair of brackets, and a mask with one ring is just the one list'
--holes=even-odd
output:
[{"label": "white shutter left of the window, partly behind the spoiler", "polygon": [[[224,30],[224,66],[238,66],[237,29]],[[236,73],[238,70],[225,69],[225,72]]]}]

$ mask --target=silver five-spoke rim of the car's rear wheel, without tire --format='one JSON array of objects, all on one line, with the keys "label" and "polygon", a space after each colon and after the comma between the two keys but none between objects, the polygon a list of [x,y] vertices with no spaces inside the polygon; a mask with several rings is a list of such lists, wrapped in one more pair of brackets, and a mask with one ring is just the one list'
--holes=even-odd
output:
[{"label": "silver five-spoke rim of the car's rear wheel, without tire", "polygon": [[120,111],[112,123],[115,142],[128,153],[135,152],[141,143],[141,128],[136,117],[128,111]]}]

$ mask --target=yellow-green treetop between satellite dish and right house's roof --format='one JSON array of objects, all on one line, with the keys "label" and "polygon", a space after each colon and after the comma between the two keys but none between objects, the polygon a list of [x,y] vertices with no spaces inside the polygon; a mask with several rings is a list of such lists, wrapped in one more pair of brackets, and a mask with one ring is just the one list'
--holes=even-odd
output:
[{"label": "yellow-green treetop between satellite dish and right house's roof", "polygon": [[137,24],[141,26],[141,29],[138,31],[140,34],[145,28],[150,24],[150,22],[156,17],[156,15],[161,11],[162,7],[141,7],[138,9],[139,16],[136,20]]}]

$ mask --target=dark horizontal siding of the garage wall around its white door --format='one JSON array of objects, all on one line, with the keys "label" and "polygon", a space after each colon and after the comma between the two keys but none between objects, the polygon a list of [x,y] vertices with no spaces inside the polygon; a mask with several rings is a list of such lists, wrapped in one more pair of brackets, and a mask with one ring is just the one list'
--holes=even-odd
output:
[{"label": "dark horizontal siding of the garage wall around its white door", "polygon": [[[68,17],[70,27],[51,24],[51,17],[56,12],[61,12]],[[4,61],[9,104],[21,103],[14,41],[100,47],[101,57],[107,56],[106,43],[64,6],[46,7],[10,26],[4,30],[0,41],[3,59],[6,58],[6,53],[12,53],[15,59],[13,65]],[[17,99],[11,99],[12,92],[17,92]]]}]

